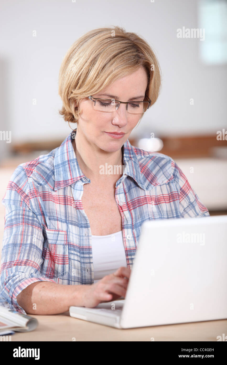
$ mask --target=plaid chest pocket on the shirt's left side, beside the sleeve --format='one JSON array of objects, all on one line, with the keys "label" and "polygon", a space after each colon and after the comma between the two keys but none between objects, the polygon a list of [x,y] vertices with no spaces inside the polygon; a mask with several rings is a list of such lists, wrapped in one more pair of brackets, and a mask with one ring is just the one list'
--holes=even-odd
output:
[{"label": "plaid chest pocket on the shirt's left side, beside the sleeve", "polygon": [[46,255],[43,271],[45,276],[54,279],[69,273],[69,252],[66,231],[46,228]]}]

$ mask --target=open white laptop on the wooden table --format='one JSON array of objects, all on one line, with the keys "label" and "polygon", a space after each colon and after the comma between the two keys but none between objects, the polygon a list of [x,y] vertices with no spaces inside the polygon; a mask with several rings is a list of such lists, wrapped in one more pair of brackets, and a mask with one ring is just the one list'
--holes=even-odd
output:
[{"label": "open white laptop on the wooden table", "polygon": [[143,223],[125,299],[70,316],[116,328],[227,318],[227,215]]}]

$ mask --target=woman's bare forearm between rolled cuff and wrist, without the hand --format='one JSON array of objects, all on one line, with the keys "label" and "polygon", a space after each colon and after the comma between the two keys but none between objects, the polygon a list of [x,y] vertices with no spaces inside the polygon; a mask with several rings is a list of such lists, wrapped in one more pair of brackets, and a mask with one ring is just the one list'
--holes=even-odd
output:
[{"label": "woman's bare forearm between rolled cuff and wrist, without the hand", "polygon": [[70,306],[83,306],[85,287],[36,281],[22,290],[16,299],[27,314],[59,314],[69,311]]}]

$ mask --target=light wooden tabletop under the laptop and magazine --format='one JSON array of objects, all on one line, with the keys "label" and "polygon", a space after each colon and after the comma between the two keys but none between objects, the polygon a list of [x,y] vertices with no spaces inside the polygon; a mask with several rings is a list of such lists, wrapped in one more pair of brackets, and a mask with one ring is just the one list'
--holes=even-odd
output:
[{"label": "light wooden tabletop under the laptop and magazine", "polygon": [[72,318],[69,312],[31,316],[39,322],[36,330],[17,332],[11,341],[217,341],[227,335],[227,319],[120,330]]}]

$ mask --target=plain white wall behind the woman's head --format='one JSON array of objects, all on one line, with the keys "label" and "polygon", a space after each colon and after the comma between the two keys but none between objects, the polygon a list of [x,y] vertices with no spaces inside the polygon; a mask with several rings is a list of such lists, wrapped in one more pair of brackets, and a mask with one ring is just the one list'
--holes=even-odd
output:
[{"label": "plain white wall behind the woman's head", "polygon": [[[11,130],[12,142],[50,136],[63,140],[70,132],[58,115],[63,56],[86,31],[119,25],[149,42],[163,72],[160,98],[132,136],[145,131],[216,134],[226,124],[227,66],[202,64],[202,41],[176,37],[177,28],[199,27],[197,6],[197,0],[1,0],[0,130]],[[0,145],[5,152],[10,143]]]}]

